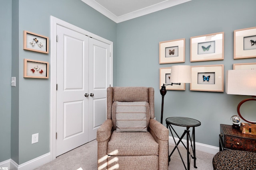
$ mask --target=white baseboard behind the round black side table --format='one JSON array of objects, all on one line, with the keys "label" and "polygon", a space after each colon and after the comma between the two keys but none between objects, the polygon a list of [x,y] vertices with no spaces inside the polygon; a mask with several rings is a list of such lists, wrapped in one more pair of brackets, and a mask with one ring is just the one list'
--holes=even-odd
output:
[{"label": "white baseboard behind the round black side table", "polygon": [[[177,137],[174,137],[175,141],[178,142],[179,139]],[[187,140],[182,139],[182,142],[186,145]],[[169,136],[169,143],[172,143],[175,145],[174,140],[172,138],[172,136]],[[206,153],[210,153],[210,154],[216,154],[217,152],[220,151],[219,147],[214,147],[211,145],[206,145],[203,143],[195,143],[196,144],[196,150],[200,150],[202,152],[206,152]],[[179,144],[182,145],[182,144]]]}]

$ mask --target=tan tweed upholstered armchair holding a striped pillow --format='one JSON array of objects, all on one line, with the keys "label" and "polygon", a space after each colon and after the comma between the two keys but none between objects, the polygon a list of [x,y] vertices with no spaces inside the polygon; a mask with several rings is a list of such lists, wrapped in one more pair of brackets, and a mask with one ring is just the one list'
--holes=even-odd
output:
[{"label": "tan tweed upholstered armchair holding a striped pillow", "polygon": [[154,88],[109,87],[98,170],[168,170],[169,131],[154,117]]}]

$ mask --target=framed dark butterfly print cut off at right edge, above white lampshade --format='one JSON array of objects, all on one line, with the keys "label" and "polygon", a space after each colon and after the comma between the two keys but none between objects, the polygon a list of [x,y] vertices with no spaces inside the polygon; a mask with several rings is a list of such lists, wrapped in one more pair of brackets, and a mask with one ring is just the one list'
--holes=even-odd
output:
[{"label": "framed dark butterfly print cut off at right edge, above white lampshade", "polygon": [[234,59],[256,57],[256,27],[234,30]]}]

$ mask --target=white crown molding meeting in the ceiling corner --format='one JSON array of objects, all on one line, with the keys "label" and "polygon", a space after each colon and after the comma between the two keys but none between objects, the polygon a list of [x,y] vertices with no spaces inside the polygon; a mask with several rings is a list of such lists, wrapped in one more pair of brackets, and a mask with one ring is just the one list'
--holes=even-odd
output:
[{"label": "white crown molding meeting in the ceiling corner", "polygon": [[191,1],[191,0],[166,0],[164,2],[160,2],[158,4],[148,6],[146,8],[136,10],[134,12],[131,12],[131,13],[128,13],[128,14],[125,14],[125,15],[122,15],[122,16],[114,15],[112,12],[110,12],[109,10],[107,10],[106,8],[104,8],[103,6],[101,6],[100,4],[98,4],[94,0],[82,0],[82,1],[84,3],[86,3],[87,5],[89,5],[90,7],[97,10],[98,12],[100,12],[101,14],[103,14],[104,16],[106,16],[106,17],[110,18],[111,20],[115,21],[116,23],[120,23],[122,21],[131,20],[133,18],[137,18],[137,17],[140,17],[140,16],[144,16],[146,14],[150,14],[152,12],[156,12],[156,11],[159,11],[159,10],[170,8],[172,6],[176,6],[178,4],[182,4],[184,2],[188,2],[188,1]]}]

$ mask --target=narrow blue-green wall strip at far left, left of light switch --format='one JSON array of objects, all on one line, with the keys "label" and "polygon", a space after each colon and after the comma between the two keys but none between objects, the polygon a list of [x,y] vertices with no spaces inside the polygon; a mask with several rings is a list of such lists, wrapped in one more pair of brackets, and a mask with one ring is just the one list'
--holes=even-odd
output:
[{"label": "narrow blue-green wall strip at far left, left of light switch", "polygon": [[[0,2],[0,162],[10,158],[12,1]],[[4,26],[3,26],[4,23]]]}]

